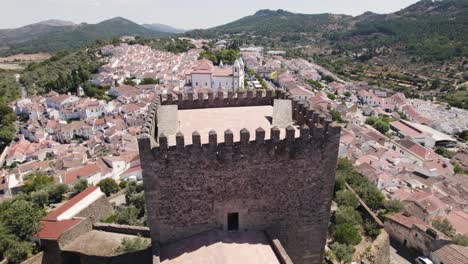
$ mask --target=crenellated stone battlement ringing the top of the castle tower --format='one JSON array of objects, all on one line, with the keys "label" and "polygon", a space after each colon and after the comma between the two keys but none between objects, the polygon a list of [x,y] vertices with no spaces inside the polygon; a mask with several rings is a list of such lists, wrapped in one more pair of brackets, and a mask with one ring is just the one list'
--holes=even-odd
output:
[{"label": "crenellated stone battlement ringing the top of the castle tower", "polygon": [[[166,135],[161,135],[159,138],[156,135],[157,130],[157,111],[161,105],[177,105],[178,109],[206,109],[206,108],[220,108],[220,107],[242,107],[242,106],[262,106],[262,105],[273,105],[274,99],[290,99],[292,101],[292,109],[293,109],[293,120],[297,127],[301,127],[300,135],[296,135],[296,129],[294,127],[290,127],[292,129],[286,129],[285,138],[292,141],[292,138],[301,138],[301,140],[323,140],[326,137],[329,137],[330,134],[340,134],[340,127],[336,125],[331,125],[332,121],[328,113],[326,112],[317,112],[314,111],[309,105],[306,105],[304,101],[300,101],[297,99],[291,99],[291,96],[284,91],[277,91],[276,95],[273,96],[272,91],[267,91],[265,94],[262,91],[257,91],[254,93],[253,91],[247,92],[228,92],[228,93],[198,93],[196,97],[193,93],[177,93],[177,97],[173,97],[172,94],[168,95],[160,95],[158,94],[155,97],[155,100],[148,108],[148,116],[146,118],[145,126],[142,130],[142,138],[151,138],[155,142],[159,142],[159,147],[161,149],[172,150],[172,149],[185,149],[189,146],[189,148],[197,147],[197,142],[199,147],[202,147],[201,144],[201,137],[197,131],[192,133],[192,140],[195,144],[188,144],[186,145],[185,136],[181,133],[174,135],[173,137],[176,138],[176,146],[169,147],[169,139]],[[233,133],[230,130],[226,130],[224,133],[224,140],[220,140],[219,142],[213,142],[213,139],[218,139],[218,135],[212,135],[210,133],[209,142],[212,146],[217,146],[220,143],[230,144],[230,145],[242,145],[245,144],[247,141],[249,143],[252,142],[264,142],[266,144],[274,144],[275,142],[279,144],[282,140],[280,140],[280,129],[279,128],[271,128],[270,129],[271,138],[265,139],[265,130],[263,128],[258,128],[257,131],[252,133],[255,135],[254,140],[251,139],[251,132],[247,129],[243,129],[239,131],[240,133],[240,141],[239,142],[230,142],[229,139],[233,139],[234,137],[230,137]],[[304,131],[303,131],[304,130]],[[308,136],[303,135],[307,130]],[[263,139],[262,133],[263,131]],[[289,132],[288,132],[289,131]],[[216,132],[212,130],[214,134]],[[237,131],[234,131],[237,132]],[[292,136],[291,134],[293,133]],[[293,137],[294,136],[294,137]],[[245,141],[245,142],[242,142]],[[154,142],[154,143],[155,143]],[[165,143],[167,142],[167,143]],[[167,144],[167,146],[165,146]],[[181,144],[184,144],[183,146]],[[152,144],[155,145],[155,144]],[[190,146],[193,145],[193,146]],[[288,144],[286,144],[288,145]]]}]

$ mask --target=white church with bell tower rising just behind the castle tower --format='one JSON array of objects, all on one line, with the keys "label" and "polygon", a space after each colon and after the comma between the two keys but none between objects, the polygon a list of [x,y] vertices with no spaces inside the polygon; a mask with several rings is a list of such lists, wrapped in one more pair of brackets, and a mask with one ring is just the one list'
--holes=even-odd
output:
[{"label": "white church with bell tower rising just behind the castle tower", "polygon": [[238,59],[234,65],[213,66],[209,60],[200,62],[185,73],[185,85],[193,89],[212,89],[213,91],[237,91],[244,88],[244,62]]}]

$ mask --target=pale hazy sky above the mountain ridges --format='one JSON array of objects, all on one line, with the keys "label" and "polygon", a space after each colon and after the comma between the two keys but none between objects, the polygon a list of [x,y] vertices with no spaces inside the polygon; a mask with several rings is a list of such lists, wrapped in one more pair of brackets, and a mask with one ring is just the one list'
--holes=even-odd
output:
[{"label": "pale hazy sky above the mountain ridges", "polygon": [[47,19],[96,23],[116,16],[193,29],[231,22],[259,9],[316,14],[389,13],[416,0],[0,0],[0,28]]}]

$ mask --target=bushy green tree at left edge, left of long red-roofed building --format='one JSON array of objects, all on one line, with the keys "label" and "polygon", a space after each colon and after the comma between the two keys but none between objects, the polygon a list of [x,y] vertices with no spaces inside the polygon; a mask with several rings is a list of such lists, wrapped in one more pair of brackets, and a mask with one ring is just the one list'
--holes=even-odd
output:
[{"label": "bushy green tree at left edge, left of long red-roofed building", "polygon": [[3,213],[2,220],[12,234],[26,240],[39,231],[39,221],[44,215],[45,212],[38,210],[33,203],[16,200]]}]

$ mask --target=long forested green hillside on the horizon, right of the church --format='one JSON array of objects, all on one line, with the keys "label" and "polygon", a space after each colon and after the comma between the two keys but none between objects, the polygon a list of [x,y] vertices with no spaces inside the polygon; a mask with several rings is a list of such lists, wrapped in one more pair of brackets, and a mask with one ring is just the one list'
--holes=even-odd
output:
[{"label": "long forested green hillside on the horizon, right of the church", "polygon": [[359,52],[381,47],[399,49],[424,60],[467,55],[468,0],[422,0],[391,14],[366,12],[352,17],[260,10],[237,21],[187,33],[194,37],[260,35],[309,45],[326,42],[339,51]]}]

